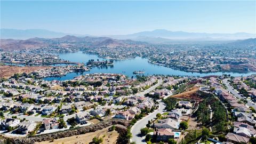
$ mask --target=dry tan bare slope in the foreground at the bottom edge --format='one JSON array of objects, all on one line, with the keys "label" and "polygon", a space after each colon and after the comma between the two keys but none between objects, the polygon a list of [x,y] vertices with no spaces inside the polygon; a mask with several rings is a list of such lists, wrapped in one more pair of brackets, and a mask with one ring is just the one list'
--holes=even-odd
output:
[{"label": "dry tan bare slope in the foreground at the bottom edge", "polygon": [[[109,126],[110,127],[110,126]],[[67,137],[67,138],[61,138],[54,140],[53,142],[50,141],[43,141],[39,142],[40,144],[44,143],[52,143],[52,144],[74,144],[74,143],[80,143],[80,144],[86,144],[92,142],[92,139],[94,137],[102,138],[103,142],[102,143],[115,143],[118,137],[117,131],[111,131],[108,132],[108,128],[106,127],[105,129],[95,131],[95,132],[90,132],[86,134],[81,134],[81,135],[75,135],[73,137]],[[38,143],[38,142],[37,142]]]}]

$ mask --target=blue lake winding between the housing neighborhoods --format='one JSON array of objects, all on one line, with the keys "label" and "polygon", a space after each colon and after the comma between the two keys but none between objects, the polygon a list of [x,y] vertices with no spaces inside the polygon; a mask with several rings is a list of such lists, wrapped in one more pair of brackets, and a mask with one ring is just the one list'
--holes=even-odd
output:
[{"label": "blue lake winding between the housing neighborhoods", "polygon": [[[64,60],[69,60],[71,62],[83,62],[86,63],[89,59],[94,60],[107,60],[103,58],[99,58],[97,55],[94,54],[85,54],[82,52],[75,52],[75,53],[61,53],[59,57]],[[209,75],[223,75],[223,74],[230,74],[231,76],[248,76],[252,74],[256,74],[255,72],[251,73],[231,73],[231,72],[218,72],[218,73],[191,73],[181,70],[175,70],[172,68],[167,68],[164,66],[154,65],[148,62],[147,59],[143,59],[137,57],[135,59],[128,59],[128,60],[115,60],[114,66],[108,67],[94,67],[90,71],[86,71],[84,73],[69,73],[66,76],[62,77],[47,77],[44,78],[45,80],[60,80],[65,81],[67,79],[73,79],[76,76],[81,74],[91,74],[91,73],[116,73],[116,74],[125,74],[127,76],[135,76],[133,71],[135,70],[143,70],[145,71],[144,75],[154,75],[154,74],[163,74],[163,75],[182,75],[182,76],[209,76]]]}]

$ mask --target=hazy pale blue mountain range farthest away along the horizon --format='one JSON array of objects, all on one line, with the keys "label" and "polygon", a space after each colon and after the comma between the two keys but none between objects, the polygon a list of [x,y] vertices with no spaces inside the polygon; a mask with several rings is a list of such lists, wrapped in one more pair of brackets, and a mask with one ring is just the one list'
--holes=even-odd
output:
[{"label": "hazy pale blue mountain range farthest away along the horizon", "polygon": [[[56,38],[66,35],[85,37],[90,35],[78,35],[60,33],[44,29],[1,29],[1,39],[29,39],[34,37]],[[236,39],[255,38],[256,34],[234,33],[234,34],[209,34],[209,33],[189,33],[185,31],[170,31],[165,29],[156,29],[153,31],[141,31],[139,33],[128,35],[105,35],[91,37],[110,37],[114,39],[131,39],[133,41],[142,41],[148,43],[172,43],[173,41],[229,41]]]}]

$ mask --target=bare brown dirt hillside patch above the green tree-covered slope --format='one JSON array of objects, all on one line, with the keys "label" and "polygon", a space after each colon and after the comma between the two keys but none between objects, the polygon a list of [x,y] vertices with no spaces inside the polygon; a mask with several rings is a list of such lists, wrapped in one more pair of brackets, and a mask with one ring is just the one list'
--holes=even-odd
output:
[{"label": "bare brown dirt hillside patch above the green tree-covered slope", "polygon": [[186,90],[185,92],[182,92],[180,94],[175,94],[172,97],[173,98],[181,98],[181,99],[201,100],[201,98],[197,97],[197,91],[198,91],[198,87],[193,86],[190,89]]}]

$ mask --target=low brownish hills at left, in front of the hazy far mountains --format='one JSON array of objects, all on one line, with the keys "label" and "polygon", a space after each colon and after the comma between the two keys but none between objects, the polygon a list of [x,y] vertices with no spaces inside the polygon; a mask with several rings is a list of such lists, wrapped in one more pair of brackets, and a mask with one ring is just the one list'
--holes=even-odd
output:
[{"label": "low brownish hills at left, in front of the hazy far mountains", "polygon": [[1,39],[0,47],[3,51],[22,49],[37,49],[41,47],[130,47],[144,46],[146,43],[131,40],[119,40],[109,37],[77,37],[66,35],[60,38],[29,38],[26,40]]}]

